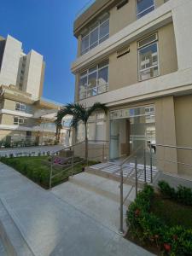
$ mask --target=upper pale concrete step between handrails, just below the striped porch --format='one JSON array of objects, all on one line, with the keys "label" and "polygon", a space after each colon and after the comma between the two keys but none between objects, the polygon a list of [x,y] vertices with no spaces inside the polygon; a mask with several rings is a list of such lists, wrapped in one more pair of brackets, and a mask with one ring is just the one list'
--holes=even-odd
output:
[{"label": "upper pale concrete step between handrails, just below the striped porch", "polygon": [[[95,192],[97,195],[102,195],[110,200],[119,203],[119,182],[108,179],[106,177],[96,176],[94,174],[83,172],[69,178],[70,183],[75,183],[84,189]],[[125,206],[128,206],[135,199],[135,188],[131,185],[124,184],[124,195],[129,195],[125,201]]]}]

